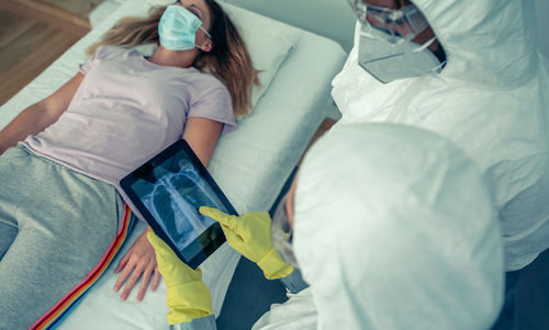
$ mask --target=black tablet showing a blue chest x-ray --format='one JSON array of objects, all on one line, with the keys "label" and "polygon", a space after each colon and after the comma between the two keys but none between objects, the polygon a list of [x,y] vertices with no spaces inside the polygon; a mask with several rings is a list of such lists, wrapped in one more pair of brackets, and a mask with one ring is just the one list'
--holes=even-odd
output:
[{"label": "black tablet showing a blue chest x-ray", "polygon": [[192,269],[225,242],[200,206],[237,215],[186,140],[180,139],[124,177],[121,189],[156,235]]}]

